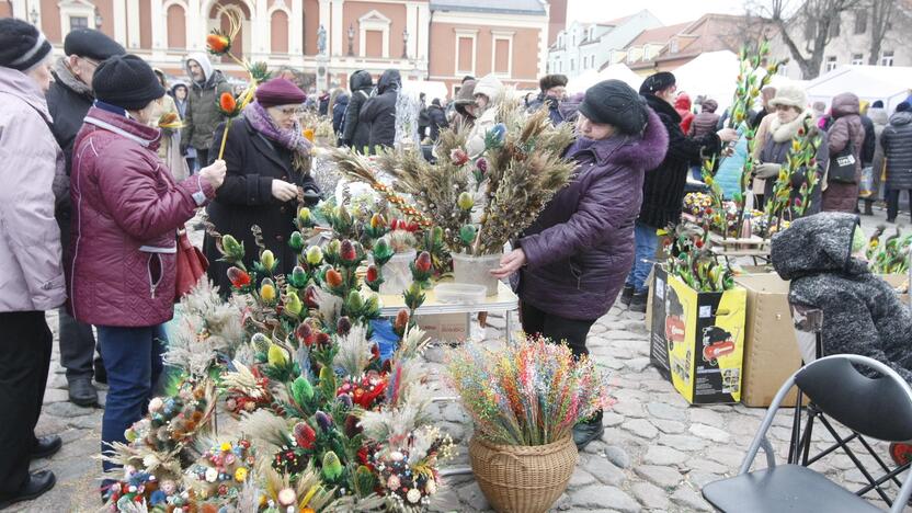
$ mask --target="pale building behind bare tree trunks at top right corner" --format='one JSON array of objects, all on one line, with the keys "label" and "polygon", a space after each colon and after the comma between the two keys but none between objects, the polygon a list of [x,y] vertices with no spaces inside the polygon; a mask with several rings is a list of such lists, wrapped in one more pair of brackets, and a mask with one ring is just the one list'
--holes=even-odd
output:
[{"label": "pale building behind bare tree trunks at top right corner", "polygon": [[[912,1],[897,1],[889,27],[884,34],[880,52],[871,59],[873,20],[870,8],[843,12],[837,25],[831,25],[830,42],[820,62],[819,75],[844,65],[912,66]],[[793,41],[801,48],[817,35],[814,23],[796,19],[788,26]],[[808,44],[810,46],[811,44]],[[791,57],[780,36],[771,39],[773,55],[777,58]],[[871,61],[873,60],[873,61]],[[790,79],[802,80],[800,67],[790,59],[783,73]]]}]

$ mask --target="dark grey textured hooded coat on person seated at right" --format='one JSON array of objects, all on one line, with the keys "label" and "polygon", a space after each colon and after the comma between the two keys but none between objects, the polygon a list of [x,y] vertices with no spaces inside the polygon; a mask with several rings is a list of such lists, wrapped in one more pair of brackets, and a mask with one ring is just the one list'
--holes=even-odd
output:
[{"label": "dark grey textured hooded coat on person seated at right", "polygon": [[912,316],[893,288],[853,258],[858,217],[822,213],[773,236],[773,266],[788,299],[823,310],[823,353],[882,362],[912,380]]}]

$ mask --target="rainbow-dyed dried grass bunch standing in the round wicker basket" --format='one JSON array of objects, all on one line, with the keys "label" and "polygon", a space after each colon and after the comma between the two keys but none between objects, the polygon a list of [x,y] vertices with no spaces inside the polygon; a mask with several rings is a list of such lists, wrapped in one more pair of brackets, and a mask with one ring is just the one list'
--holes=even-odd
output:
[{"label": "rainbow-dyed dried grass bunch standing in the round wicker basket", "polygon": [[577,360],[566,344],[540,337],[500,350],[467,342],[451,351],[447,371],[476,434],[493,444],[551,444],[612,404],[606,377],[592,360]]}]

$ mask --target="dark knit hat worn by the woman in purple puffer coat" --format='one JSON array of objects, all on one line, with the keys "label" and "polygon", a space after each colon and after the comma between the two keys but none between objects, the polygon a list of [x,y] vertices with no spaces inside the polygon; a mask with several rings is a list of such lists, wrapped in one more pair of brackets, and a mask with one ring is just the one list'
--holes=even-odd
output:
[{"label": "dark knit hat worn by the woman in purple puffer coat", "polygon": [[620,80],[605,80],[586,90],[579,111],[595,123],[634,135],[646,127],[646,100],[634,88]]}]

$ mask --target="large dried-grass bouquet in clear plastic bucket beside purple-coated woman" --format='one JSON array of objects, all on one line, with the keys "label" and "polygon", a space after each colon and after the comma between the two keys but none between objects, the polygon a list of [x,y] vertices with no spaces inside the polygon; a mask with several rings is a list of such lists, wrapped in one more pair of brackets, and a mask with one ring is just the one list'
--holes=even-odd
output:
[{"label": "large dried-grass bouquet in clear plastic bucket beside purple-coated woman", "polygon": [[386,150],[374,162],[337,150],[333,159],[354,180],[374,185],[389,178],[391,190],[443,228],[451,251],[497,254],[569,181],[573,163],[562,156],[573,134],[569,125],[552,126],[546,111],[527,114],[514,99],[492,109],[499,123],[476,157],[466,149],[469,130],[455,127],[441,133],[434,163],[414,149]]}]

